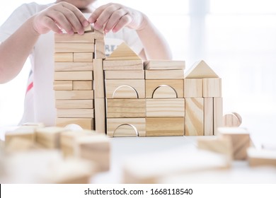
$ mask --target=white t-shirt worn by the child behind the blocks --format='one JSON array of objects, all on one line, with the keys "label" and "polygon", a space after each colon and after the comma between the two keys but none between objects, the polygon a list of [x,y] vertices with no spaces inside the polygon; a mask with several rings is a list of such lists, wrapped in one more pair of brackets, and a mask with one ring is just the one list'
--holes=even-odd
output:
[{"label": "white t-shirt worn by the child behind the blocks", "polygon": [[[0,27],[0,42],[12,35],[30,16],[38,13],[52,4],[37,3],[23,4],[18,7],[6,22]],[[122,41],[126,42],[134,52],[142,51],[142,42],[135,30],[124,28],[119,33],[105,35],[106,53],[117,47]],[[56,109],[54,107],[54,33],[40,35],[38,42],[30,54],[32,71],[28,93],[25,96],[25,110],[21,123],[43,122],[46,126],[55,124]],[[21,124],[20,123],[20,124]]]}]

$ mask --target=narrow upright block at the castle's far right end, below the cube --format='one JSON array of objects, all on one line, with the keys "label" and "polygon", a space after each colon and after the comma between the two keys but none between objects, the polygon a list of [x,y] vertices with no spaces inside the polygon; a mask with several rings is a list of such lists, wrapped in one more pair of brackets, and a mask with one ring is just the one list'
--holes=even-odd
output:
[{"label": "narrow upright block at the castle's far right end, below the cube", "polygon": [[217,128],[223,125],[223,101],[222,98],[214,98],[214,135]]}]

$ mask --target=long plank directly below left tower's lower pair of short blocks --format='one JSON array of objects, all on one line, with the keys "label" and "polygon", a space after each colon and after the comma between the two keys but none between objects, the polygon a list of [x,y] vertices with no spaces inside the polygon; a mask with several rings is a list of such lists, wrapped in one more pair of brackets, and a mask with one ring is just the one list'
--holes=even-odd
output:
[{"label": "long plank directly below left tower's lower pair of short blocks", "polygon": [[54,91],[56,100],[59,99],[94,99],[94,92],[91,91]]}]

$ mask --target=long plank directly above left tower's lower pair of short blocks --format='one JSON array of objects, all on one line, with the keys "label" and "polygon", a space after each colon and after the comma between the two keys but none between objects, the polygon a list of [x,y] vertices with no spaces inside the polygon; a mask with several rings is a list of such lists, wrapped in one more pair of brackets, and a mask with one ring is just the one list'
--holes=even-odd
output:
[{"label": "long plank directly above left tower's lower pair of short blocks", "polygon": [[92,81],[93,71],[55,71],[54,81]]}]

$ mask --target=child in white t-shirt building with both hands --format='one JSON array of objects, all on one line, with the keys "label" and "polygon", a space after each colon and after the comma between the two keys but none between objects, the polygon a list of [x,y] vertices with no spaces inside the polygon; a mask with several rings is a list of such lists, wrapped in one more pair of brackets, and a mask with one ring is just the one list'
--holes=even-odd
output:
[{"label": "child in white t-shirt building with both hands", "polygon": [[[166,40],[144,13],[120,4],[93,8],[96,0],[57,0],[53,4],[23,4],[0,27],[0,83],[13,79],[30,57],[32,71],[25,96],[23,122],[53,126],[54,33],[84,34],[93,23],[106,37],[123,40],[142,59],[171,59]],[[83,13],[92,13],[86,18]]]}]

